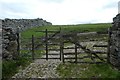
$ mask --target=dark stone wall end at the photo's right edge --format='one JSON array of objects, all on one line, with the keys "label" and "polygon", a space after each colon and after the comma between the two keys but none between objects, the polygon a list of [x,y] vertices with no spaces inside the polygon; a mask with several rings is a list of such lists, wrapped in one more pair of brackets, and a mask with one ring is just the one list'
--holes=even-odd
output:
[{"label": "dark stone wall end at the photo's right edge", "polygon": [[111,27],[110,63],[120,70],[120,14],[113,18]]}]

